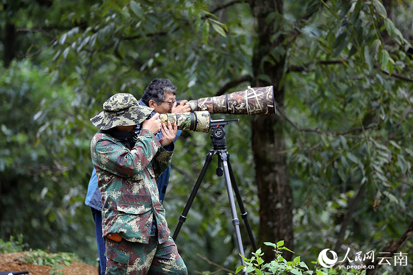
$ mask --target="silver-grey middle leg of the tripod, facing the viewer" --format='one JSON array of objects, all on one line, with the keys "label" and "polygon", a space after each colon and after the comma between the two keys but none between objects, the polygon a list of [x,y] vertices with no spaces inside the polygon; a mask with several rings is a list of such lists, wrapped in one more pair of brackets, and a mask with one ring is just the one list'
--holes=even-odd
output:
[{"label": "silver-grey middle leg of the tripod, facing the viewer", "polygon": [[[226,191],[228,192],[229,205],[230,205],[231,214],[232,214],[232,225],[235,228],[235,236],[237,238],[238,251],[240,252],[240,255],[245,258],[244,248],[242,247],[242,240],[241,240],[240,221],[238,220],[238,217],[237,217],[237,210],[235,209],[235,202],[234,202],[234,194],[232,193],[232,188],[231,188],[231,178],[229,176],[229,170],[228,170],[227,153],[221,152],[219,154],[219,157],[221,158],[222,163],[223,163]],[[241,257],[241,264],[244,265],[244,259],[242,259],[242,257]],[[243,270],[243,273],[246,275],[245,269]]]}]

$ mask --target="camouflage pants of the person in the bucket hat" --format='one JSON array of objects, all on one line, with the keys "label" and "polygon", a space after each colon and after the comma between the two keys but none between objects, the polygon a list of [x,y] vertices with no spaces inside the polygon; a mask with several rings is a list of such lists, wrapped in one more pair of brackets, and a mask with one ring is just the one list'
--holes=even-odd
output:
[{"label": "camouflage pants of the person in the bucket hat", "polygon": [[170,236],[165,243],[106,240],[106,275],[188,275],[187,267]]}]

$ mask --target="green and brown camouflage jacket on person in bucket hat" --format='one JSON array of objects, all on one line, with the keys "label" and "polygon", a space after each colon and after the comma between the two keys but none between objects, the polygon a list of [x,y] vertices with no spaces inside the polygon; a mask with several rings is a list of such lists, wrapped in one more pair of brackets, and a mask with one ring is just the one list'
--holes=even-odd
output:
[{"label": "green and brown camouflage jacket on person in bucket hat", "polygon": [[148,129],[132,149],[99,131],[90,152],[102,194],[103,237],[119,233],[127,241],[148,243],[155,217],[158,242],[166,242],[170,230],[155,178],[170,165],[173,146],[166,151]]}]

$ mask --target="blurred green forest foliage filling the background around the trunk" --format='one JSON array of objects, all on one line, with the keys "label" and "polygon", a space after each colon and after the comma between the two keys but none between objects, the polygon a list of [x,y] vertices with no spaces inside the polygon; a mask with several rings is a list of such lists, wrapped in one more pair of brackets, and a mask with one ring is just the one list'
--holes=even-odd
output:
[{"label": "blurred green forest foliage filling the background around the trunk", "polygon": [[[293,190],[293,250],[317,266],[324,248],[382,252],[399,241],[413,220],[412,1],[284,1],[283,14],[265,18],[276,30],[266,39],[282,42],[260,61],[284,62],[279,83],[265,72],[254,76],[251,2],[0,3],[0,238],[22,233],[31,247],[75,252],[94,264],[84,199],[96,131],[89,118],[103,101],[119,92],[139,98],[160,77],[178,87],[180,99],[245,90],[258,77],[285,91],[275,130],[286,143],[280,153]],[[227,146],[259,238],[253,118],[213,115],[221,117],[240,118],[225,126]],[[164,202],[172,231],[211,143],[209,134],[185,132],[176,146]],[[214,269],[200,256],[239,265],[215,163],[177,239],[189,269],[200,272]],[[412,242],[400,250],[411,255]]]}]

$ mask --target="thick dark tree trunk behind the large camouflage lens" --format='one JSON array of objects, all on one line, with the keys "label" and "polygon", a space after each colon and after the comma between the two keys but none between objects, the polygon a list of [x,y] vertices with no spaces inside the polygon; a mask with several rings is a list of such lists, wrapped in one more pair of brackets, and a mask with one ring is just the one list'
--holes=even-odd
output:
[{"label": "thick dark tree trunk behind the large camouflage lens", "polygon": [[[280,35],[272,40],[277,31],[274,29],[274,22],[281,18],[282,5],[282,0],[250,1],[258,35],[258,43],[254,48],[252,83],[253,86],[274,86],[274,96],[278,105],[276,108],[282,107],[284,101],[284,88],[279,87],[279,83],[283,74],[285,54],[275,59],[270,52],[276,46],[282,46],[281,42],[284,39]],[[275,19],[265,22],[265,18],[274,12],[277,14]],[[271,82],[258,79],[259,75],[267,75]],[[252,122],[252,147],[260,204],[258,246],[261,246],[267,262],[274,259],[274,252],[272,247],[262,245],[262,242],[276,243],[284,240],[284,245],[293,249],[293,195],[287,171],[285,140],[280,124],[280,117],[276,114],[259,115]],[[284,253],[283,256],[291,259],[291,254]]]}]

